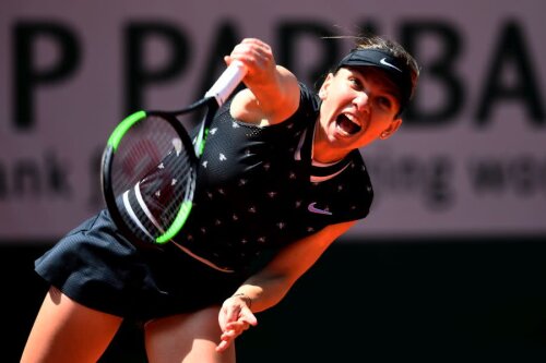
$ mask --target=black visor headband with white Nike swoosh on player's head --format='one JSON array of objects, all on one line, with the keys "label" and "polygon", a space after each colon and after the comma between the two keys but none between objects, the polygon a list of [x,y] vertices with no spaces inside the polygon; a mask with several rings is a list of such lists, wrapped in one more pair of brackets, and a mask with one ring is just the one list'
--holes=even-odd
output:
[{"label": "black visor headband with white Nike swoosh on player's head", "polygon": [[377,66],[389,74],[401,92],[399,112],[401,113],[412,97],[412,72],[407,64],[384,50],[354,49],[341,60],[337,64],[337,69],[342,66],[363,65]]}]

